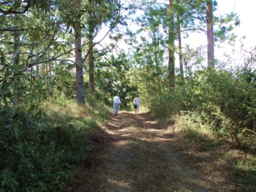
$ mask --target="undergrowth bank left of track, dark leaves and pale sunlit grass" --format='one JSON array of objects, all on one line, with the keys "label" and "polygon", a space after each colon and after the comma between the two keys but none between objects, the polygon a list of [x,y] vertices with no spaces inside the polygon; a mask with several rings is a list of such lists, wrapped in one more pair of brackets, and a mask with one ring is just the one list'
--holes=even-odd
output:
[{"label": "undergrowth bank left of track, dark leaves and pale sunlit grass", "polygon": [[[106,118],[108,109],[96,102],[78,107],[63,101],[41,106],[41,129],[30,126],[37,123],[31,120],[26,127],[22,122],[9,123],[17,131],[1,133],[0,191],[62,191],[86,160],[92,149],[90,135]],[[24,109],[23,113],[28,117],[35,114]]]}]

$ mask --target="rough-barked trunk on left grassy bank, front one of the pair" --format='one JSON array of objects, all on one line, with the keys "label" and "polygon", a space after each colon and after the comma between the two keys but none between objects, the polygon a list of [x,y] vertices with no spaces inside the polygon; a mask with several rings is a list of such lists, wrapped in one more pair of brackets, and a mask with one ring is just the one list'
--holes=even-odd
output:
[{"label": "rough-barked trunk on left grassy bank, front one of the pair", "polygon": [[76,94],[78,105],[85,103],[84,99],[84,77],[82,66],[82,48],[81,48],[81,23],[75,24],[75,62],[76,62]]}]

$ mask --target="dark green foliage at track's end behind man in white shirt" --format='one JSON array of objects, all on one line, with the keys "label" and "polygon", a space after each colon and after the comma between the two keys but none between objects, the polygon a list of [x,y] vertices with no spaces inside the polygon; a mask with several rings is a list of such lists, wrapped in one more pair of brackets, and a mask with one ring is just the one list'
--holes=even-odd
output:
[{"label": "dark green foliage at track's end behind man in white shirt", "polygon": [[[107,106],[113,106],[113,97],[119,93],[122,102],[121,108],[129,108],[129,103],[138,92],[138,87],[129,79],[130,62],[126,54],[111,55],[107,61],[98,61],[95,75],[95,98],[103,101]],[[107,68],[102,69],[102,66]],[[90,98],[89,98],[90,100]]]}]

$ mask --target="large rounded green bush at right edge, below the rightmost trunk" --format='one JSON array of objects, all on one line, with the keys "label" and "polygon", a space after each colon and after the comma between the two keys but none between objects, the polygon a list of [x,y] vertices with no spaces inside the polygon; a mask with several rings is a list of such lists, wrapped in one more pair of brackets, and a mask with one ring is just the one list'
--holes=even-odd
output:
[{"label": "large rounded green bush at right edge, below the rightmost trunk", "polygon": [[[246,72],[247,73],[247,72]],[[205,122],[213,123],[215,131],[230,133],[234,143],[242,145],[242,129],[255,130],[254,82],[248,75],[238,71],[206,70],[191,79],[192,88],[188,100],[189,110],[197,111]]]}]

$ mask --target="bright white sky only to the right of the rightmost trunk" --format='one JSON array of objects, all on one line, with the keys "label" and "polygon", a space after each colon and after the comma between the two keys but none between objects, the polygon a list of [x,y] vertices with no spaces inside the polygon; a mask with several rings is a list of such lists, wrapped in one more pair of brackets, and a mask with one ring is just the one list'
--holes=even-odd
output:
[{"label": "bright white sky only to the right of the rightmost trunk", "polygon": [[[252,48],[256,46],[256,27],[254,19],[256,17],[256,1],[255,0],[217,0],[218,9],[215,11],[215,15],[224,15],[230,12],[235,12],[239,16],[240,26],[234,29],[234,34],[237,36],[235,46],[230,46],[226,44],[223,48],[215,47],[214,54],[216,59],[226,60],[230,63],[229,66],[234,68],[236,65],[242,65],[244,57],[241,52],[241,43],[243,44],[243,49],[251,51]],[[239,41],[243,36],[244,39]],[[232,50],[236,50],[232,52]],[[228,58],[224,56],[225,53],[228,53],[233,61],[229,61]]]}]

